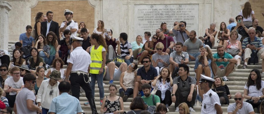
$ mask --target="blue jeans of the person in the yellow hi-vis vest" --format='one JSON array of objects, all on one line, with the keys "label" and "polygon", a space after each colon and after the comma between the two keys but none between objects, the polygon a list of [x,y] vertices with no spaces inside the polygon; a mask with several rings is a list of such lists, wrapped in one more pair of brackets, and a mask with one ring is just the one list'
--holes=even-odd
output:
[{"label": "blue jeans of the person in the yellow hi-vis vest", "polygon": [[103,77],[104,77],[104,71],[101,74],[91,74],[90,87],[92,89],[93,98],[94,98],[95,80],[97,80],[97,84],[98,84],[98,88],[99,88],[99,94],[100,94],[100,100],[104,99]]}]

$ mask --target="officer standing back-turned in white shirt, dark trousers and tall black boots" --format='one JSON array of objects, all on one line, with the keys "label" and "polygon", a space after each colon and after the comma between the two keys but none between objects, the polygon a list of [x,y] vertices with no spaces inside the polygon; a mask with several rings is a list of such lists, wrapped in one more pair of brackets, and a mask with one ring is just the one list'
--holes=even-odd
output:
[{"label": "officer standing back-turned in white shirt, dark trousers and tall black boots", "polygon": [[[73,37],[72,46],[73,51],[68,57],[67,71],[65,80],[69,80],[71,83],[72,96],[79,99],[80,86],[84,89],[86,98],[91,106],[92,114],[98,114],[92,96],[92,89],[90,87],[88,78],[88,67],[92,63],[90,54],[82,49],[82,38]],[[70,75],[70,79],[68,79]]]}]

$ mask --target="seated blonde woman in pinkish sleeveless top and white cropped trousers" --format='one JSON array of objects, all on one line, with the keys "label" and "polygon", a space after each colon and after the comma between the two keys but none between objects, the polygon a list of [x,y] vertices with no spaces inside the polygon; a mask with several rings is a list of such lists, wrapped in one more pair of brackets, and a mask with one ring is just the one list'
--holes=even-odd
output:
[{"label": "seated blonde woman in pinkish sleeveless top and white cropped trousers", "polygon": [[[224,42],[224,49],[225,52],[231,54],[236,60],[236,68],[240,69],[242,68],[241,63],[241,55],[242,55],[242,45],[241,42],[236,40],[238,38],[238,33],[236,30],[231,32],[231,39],[227,40],[226,42]],[[237,51],[239,51],[238,53],[233,53],[234,49],[236,49]],[[228,51],[229,50],[229,51]]]}]

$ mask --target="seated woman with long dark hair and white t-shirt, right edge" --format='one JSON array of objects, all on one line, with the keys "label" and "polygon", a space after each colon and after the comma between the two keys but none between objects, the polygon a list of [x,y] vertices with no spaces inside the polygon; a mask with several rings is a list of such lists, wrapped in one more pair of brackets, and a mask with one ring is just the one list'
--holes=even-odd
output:
[{"label": "seated woman with long dark hair and white t-shirt, right edge", "polygon": [[[262,99],[264,98],[264,81],[261,80],[260,71],[258,69],[251,70],[248,80],[244,87],[244,98],[253,108],[260,108]],[[258,113],[257,112],[257,113]]]}]

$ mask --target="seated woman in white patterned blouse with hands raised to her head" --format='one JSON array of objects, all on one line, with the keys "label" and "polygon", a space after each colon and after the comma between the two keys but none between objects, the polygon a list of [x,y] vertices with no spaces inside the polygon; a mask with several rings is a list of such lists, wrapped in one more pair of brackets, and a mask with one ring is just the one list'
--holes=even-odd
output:
[{"label": "seated woman in white patterned blouse with hands raised to her head", "polygon": [[173,79],[171,75],[172,73],[168,68],[163,68],[160,75],[151,83],[151,87],[157,90],[155,95],[160,97],[160,103],[165,104],[167,108],[172,104],[171,91]]}]

